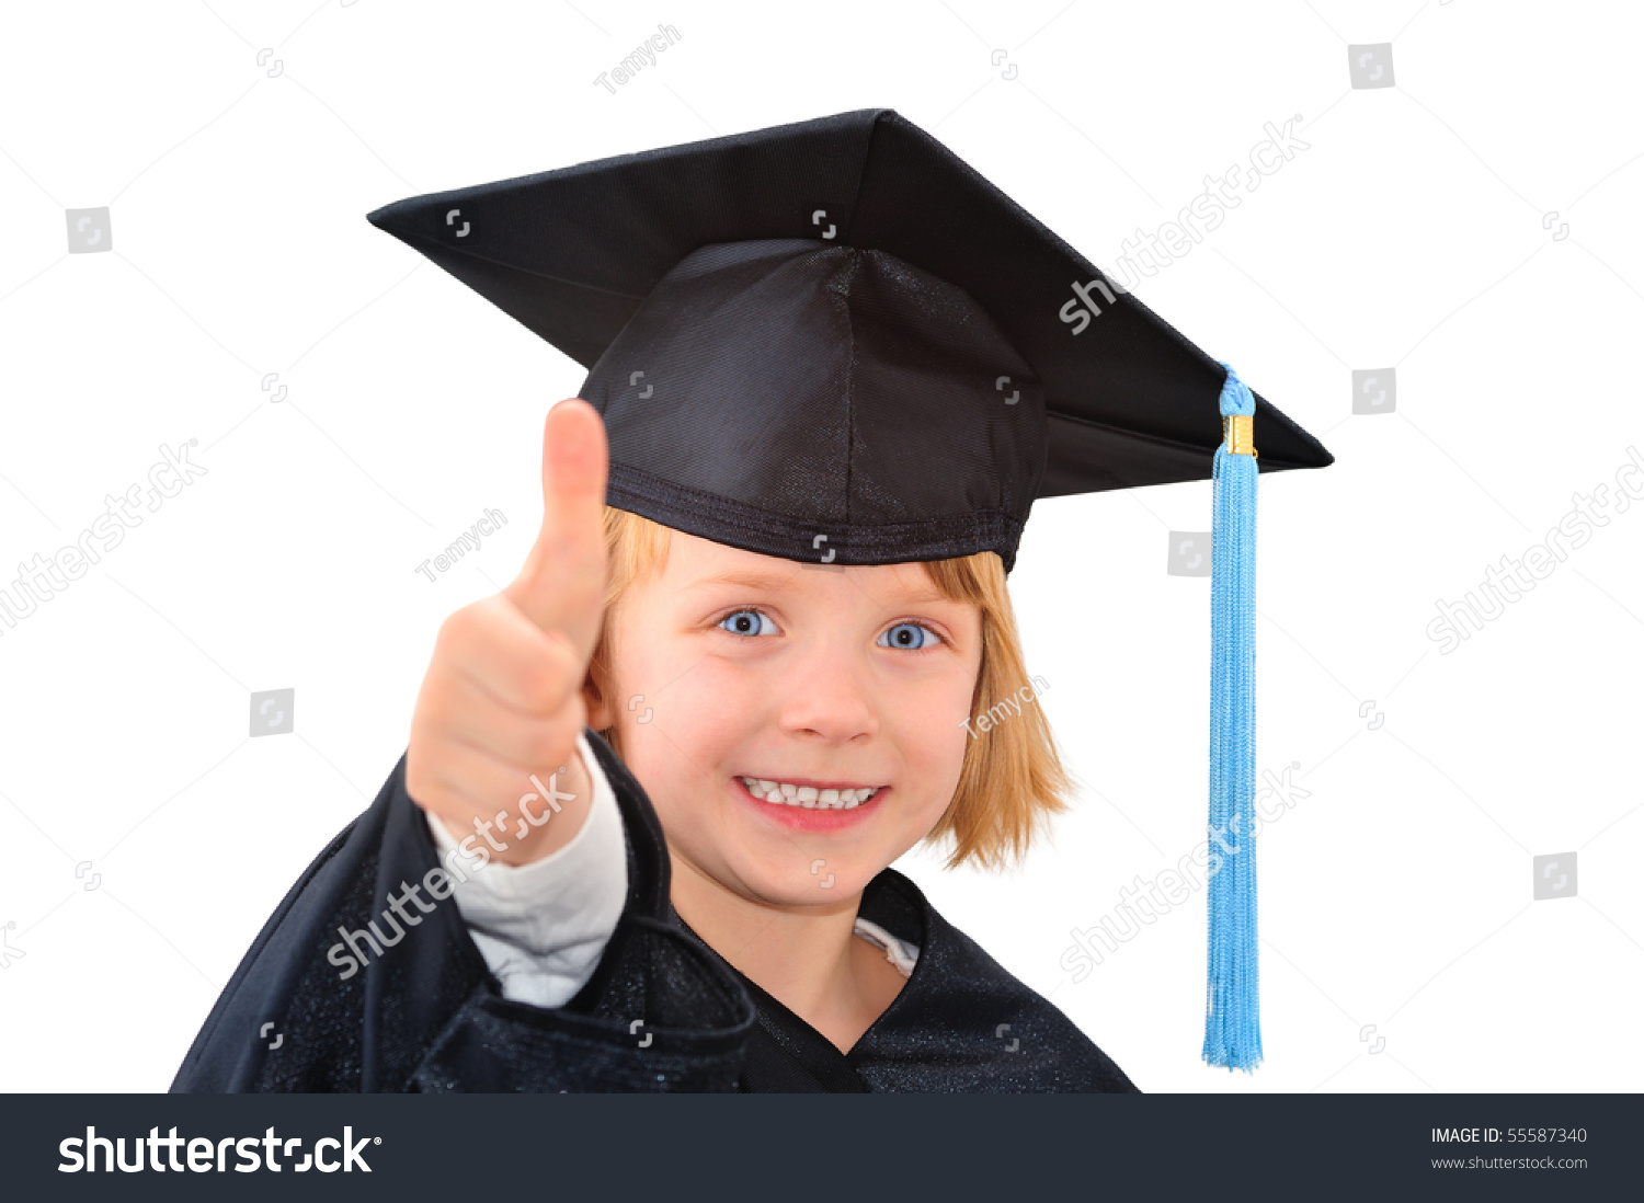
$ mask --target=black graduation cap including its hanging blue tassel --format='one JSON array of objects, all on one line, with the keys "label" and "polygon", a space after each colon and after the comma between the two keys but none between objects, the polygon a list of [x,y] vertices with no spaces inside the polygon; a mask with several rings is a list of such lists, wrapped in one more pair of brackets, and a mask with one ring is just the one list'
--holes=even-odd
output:
[{"label": "black graduation cap including its hanging blue tassel", "polygon": [[[370,220],[589,368],[608,505],[715,542],[1009,570],[1036,498],[1212,477],[1210,810],[1251,822],[1256,475],[1332,455],[924,130],[865,108]],[[1208,892],[1203,1057],[1251,1068],[1254,855]]]}]

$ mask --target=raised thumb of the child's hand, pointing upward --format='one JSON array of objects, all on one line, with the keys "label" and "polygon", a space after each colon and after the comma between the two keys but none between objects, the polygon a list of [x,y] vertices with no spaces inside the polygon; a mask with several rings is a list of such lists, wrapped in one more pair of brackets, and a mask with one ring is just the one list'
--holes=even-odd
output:
[{"label": "raised thumb of the child's hand, pointing upward", "polygon": [[570,398],[543,424],[543,529],[503,593],[526,618],[559,633],[585,664],[605,603],[605,422]]}]

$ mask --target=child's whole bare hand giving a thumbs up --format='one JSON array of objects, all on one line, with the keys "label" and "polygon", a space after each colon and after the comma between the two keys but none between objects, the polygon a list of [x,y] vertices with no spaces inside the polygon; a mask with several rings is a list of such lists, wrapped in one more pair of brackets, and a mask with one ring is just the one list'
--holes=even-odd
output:
[{"label": "child's whole bare hand giving a thumbs up", "polygon": [[[520,577],[439,628],[406,751],[406,792],[462,840],[495,823],[487,850],[523,864],[580,830],[592,786],[577,756],[587,723],[582,682],[605,602],[605,424],[582,399],[562,401],[543,429],[543,529]],[[561,812],[547,814],[531,774],[551,772]],[[506,812],[498,818],[498,812]],[[516,835],[524,827],[523,835]],[[495,845],[505,845],[496,851]],[[483,846],[483,845],[475,845]]]}]

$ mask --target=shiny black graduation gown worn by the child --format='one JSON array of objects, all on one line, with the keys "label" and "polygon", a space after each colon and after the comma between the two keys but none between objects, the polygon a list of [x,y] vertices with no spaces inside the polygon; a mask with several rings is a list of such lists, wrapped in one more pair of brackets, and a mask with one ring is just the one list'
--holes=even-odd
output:
[{"label": "shiny black graduation gown worn by the child", "polygon": [[[1136,1090],[894,869],[868,884],[860,914],[919,945],[919,961],[842,1053],[684,927],[649,799],[593,731],[589,746],[621,810],[628,899],[575,998],[505,999],[450,897],[421,915],[408,904],[414,925],[385,920],[388,896],[439,864],[401,758],[270,915],[173,1093]],[[339,927],[372,920],[403,937],[342,978],[327,960]]]}]

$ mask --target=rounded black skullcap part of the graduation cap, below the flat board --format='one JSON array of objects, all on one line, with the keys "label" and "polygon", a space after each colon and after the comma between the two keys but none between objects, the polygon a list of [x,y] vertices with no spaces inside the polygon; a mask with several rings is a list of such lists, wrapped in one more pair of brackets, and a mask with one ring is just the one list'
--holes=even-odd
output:
[{"label": "rounded black skullcap part of the graduation cap, below the flat board", "polygon": [[1032,368],[975,301],[814,238],[687,255],[582,398],[620,465],[610,505],[812,562],[1009,567],[1046,454]]}]

